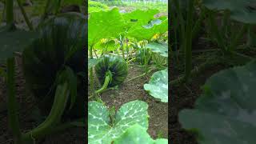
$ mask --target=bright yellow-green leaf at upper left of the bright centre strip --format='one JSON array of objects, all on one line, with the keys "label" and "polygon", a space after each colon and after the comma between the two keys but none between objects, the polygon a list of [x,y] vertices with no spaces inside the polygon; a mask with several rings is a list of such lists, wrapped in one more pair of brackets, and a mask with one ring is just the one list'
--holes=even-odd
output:
[{"label": "bright yellow-green leaf at upper left of the bright centre strip", "polygon": [[102,38],[118,37],[126,25],[117,8],[90,14],[88,25],[88,45],[93,46]]}]

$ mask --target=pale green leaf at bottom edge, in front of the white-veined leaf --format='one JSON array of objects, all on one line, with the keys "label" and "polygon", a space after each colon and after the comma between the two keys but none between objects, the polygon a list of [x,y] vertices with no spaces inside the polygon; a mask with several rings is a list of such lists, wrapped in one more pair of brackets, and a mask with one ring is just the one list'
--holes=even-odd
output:
[{"label": "pale green leaf at bottom edge, in front of the white-veined leaf", "polygon": [[158,138],[156,140],[150,138],[146,129],[138,124],[131,126],[119,138],[114,140],[114,144],[168,144],[165,138]]}]

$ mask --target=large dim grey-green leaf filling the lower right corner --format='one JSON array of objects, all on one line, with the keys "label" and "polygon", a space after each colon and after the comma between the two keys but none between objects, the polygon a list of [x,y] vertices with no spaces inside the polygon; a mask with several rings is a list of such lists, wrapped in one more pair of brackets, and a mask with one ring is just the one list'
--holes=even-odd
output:
[{"label": "large dim grey-green leaf filling the lower right corner", "polygon": [[179,121],[198,133],[200,144],[256,142],[256,61],[222,70],[206,81],[194,110],[182,110]]}]

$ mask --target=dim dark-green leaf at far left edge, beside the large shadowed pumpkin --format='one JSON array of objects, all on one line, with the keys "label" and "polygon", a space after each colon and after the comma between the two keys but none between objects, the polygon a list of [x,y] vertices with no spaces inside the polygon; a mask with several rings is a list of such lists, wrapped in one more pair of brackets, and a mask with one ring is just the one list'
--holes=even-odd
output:
[{"label": "dim dark-green leaf at far left edge, beside the large shadowed pumpkin", "polygon": [[0,33],[0,61],[13,57],[14,52],[22,52],[37,37],[37,33],[30,31],[2,31]]}]

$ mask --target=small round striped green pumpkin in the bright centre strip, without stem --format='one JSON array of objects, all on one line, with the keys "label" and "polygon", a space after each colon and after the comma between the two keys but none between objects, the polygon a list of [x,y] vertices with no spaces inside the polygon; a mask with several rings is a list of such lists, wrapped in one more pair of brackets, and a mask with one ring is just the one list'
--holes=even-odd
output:
[{"label": "small round striped green pumpkin in the bright centre strip, without stem", "polygon": [[128,74],[128,67],[126,62],[114,55],[103,55],[97,65],[95,66],[96,75],[98,77],[99,82],[104,83],[106,72],[110,70],[112,76],[112,80],[109,83],[109,87],[120,85],[125,81]]}]

